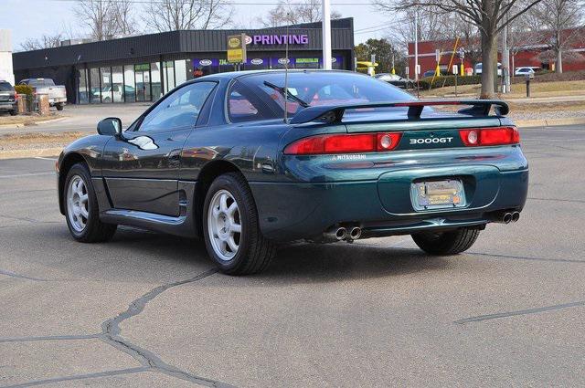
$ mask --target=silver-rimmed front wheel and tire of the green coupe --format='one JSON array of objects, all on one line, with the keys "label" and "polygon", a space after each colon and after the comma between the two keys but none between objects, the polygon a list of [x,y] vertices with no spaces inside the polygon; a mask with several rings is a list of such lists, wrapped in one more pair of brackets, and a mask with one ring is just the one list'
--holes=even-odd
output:
[{"label": "silver-rimmed front wheel and tire of the green coupe", "polygon": [[82,243],[107,241],[116,233],[117,225],[100,221],[98,198],[85,164],[77,163],[69,169],[63,194],[65,218],[71,236]]}]

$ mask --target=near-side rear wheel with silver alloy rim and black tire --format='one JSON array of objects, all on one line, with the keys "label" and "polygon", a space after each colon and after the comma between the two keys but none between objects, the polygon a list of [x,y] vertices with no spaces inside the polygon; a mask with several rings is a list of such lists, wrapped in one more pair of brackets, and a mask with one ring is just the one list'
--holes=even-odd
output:
[{"label": "near-side rear wheel with silver alloy rim and black tire", "polygon": [[229,275],[264,270],[276,246],[262,236],[250,187],[239,173],[218,176],[209,187],[203,208],[207,253]]}]

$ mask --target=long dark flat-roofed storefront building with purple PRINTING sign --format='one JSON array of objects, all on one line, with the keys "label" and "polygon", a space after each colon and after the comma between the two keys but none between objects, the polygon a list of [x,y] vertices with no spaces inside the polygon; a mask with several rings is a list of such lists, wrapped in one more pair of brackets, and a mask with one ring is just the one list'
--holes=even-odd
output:
[{"label": "long dark flat-roofed storefront building with purple PRINTING sign", "polygon": [[[333,68],[354,64],[353,18],[332,21]],[[321,23],[253,30],[185,30],[15,53],[16,79],[51,78],[70,103],[153,101],[207,74],[233,71],[229,36],[246,34],[239,69],[322,68]],[[76,42],[64,42],[76,43]]]}]

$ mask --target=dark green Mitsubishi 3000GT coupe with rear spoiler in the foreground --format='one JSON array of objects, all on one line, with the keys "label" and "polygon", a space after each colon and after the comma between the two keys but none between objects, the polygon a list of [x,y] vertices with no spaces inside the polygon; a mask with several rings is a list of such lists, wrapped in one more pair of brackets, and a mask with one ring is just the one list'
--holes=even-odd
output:
[{"label": "dark green Mitsubishi 3000GT coupe with rear spoiler in the foreground", "polygon": [[[463,109],[432,109],[445,104]],[[229,274],[261,271],[278,243],[303,239],[411,235],[453,255],[526,202],[507,112],[500,100],[417,100],[353,72],[209,75],[125,131],[108,118],[69,144],[58,204],[80,242],[108,240],[116,225],[200,236]]]}]

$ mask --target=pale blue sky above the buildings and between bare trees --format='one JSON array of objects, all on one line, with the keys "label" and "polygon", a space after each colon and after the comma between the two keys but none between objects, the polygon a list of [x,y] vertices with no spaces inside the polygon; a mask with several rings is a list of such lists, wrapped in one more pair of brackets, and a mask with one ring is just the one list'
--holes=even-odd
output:
[{"label": "pale blue sky above the buildings and between bare trees", "polygon": [[[141,0],[144,1],[144,0]],[[233,0],[235,3],[275,3],[276,0]],[[293,3],[294,1],[291,0]],[[350,3],[351,5],[343,5]],[[12,30],[12,43],[16,51],[30,37],[54,35],[63,30],[80,32],[82,29],[73,14],[72,0],[0,0],[0,28]],[[138,4],[137,7],[141,5]],[[250,20],[264,14],[274,5],[235,5],[233,22],[237,26],[250,26]],[[384,25],[388,16],[376,12],[369,0],[332,0],[332,9],[344,17],[354,17],[355,43],[370,37],[385,37]],[[365,31],[360,31],[366,29]],[[146,31],[154,32],[154,31]]]}]

